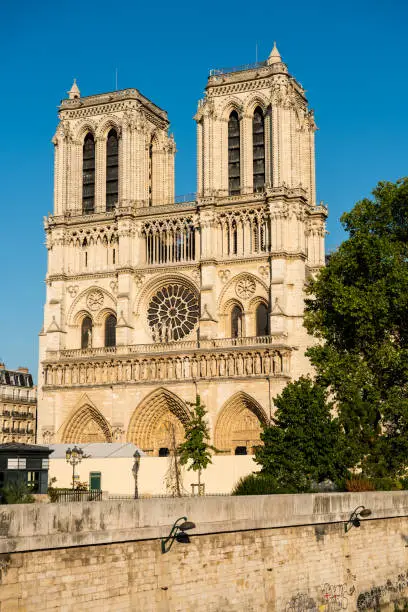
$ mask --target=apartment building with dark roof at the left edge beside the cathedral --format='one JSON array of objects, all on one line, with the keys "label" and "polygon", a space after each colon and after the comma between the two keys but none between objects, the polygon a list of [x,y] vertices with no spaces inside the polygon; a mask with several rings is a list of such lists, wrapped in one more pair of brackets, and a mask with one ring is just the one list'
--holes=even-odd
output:
[{"label": "apartment building with dark roof at the left edge beside the cathedral", "polygon": [[37,387],[28,368],[9,370],[0,363],[0,443],[34,444]]}]

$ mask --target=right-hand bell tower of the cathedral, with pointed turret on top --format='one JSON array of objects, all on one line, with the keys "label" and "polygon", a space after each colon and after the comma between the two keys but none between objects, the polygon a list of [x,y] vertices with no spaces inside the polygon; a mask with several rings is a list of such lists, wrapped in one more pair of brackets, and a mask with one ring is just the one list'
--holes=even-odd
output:
[{"label": "right-hand bell tower of the cathedral, with pointed turret on top", "polygon": [[197,191],[232,196],[286,186],[316,203],[313,111],[279,51],[212,70],[197,121]]}]

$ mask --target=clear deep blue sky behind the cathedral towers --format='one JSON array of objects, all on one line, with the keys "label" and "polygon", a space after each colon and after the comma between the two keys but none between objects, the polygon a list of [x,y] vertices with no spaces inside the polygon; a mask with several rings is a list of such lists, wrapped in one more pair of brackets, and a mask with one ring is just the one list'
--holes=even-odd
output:
[{"label": "clear deep blue sky behind the cathedral towers", "polygon": [[315,109],[327,249],[339,217],[379,180],[408,174],[406,0],[4,2],[0,9],[2,258],[0,358],[35,378],[52,210],[57,105],[73,77],[82,95],[136,87],[169,113],[176,192],[195,191],[192,119],[210,68],[266,59],[273,41]]}]

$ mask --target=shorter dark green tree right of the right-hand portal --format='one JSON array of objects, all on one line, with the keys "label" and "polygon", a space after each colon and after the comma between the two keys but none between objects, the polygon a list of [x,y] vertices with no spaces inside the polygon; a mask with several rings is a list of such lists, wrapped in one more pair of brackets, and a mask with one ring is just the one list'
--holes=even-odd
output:
[{"label": "shorter dark green tree right of the right-hand portal", "polygon": [[336,481],[352,465],[346,440],[324,388],[309,378],[289,383],[275,400],[273,425],[255,451],[261,473],[286,492],[307,491],[311,483]]}]

